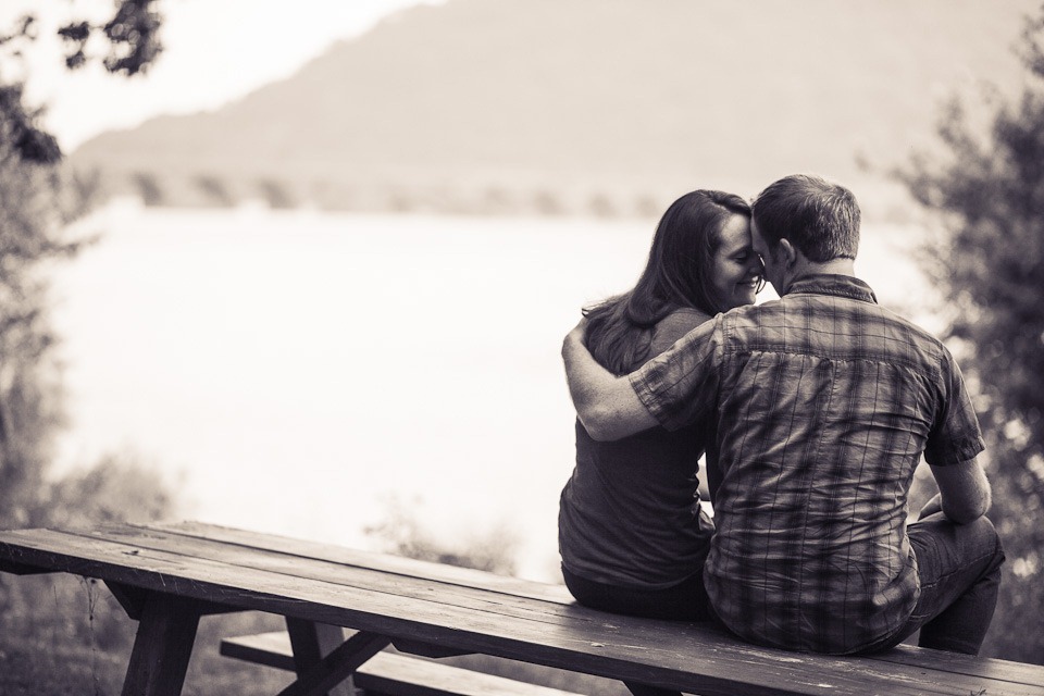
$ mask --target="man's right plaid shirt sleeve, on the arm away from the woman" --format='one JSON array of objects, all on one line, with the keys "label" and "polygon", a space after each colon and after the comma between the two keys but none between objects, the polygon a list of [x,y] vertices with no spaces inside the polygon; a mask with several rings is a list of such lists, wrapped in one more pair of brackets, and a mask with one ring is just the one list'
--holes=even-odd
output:
[{"label": "man's right plaid shirt sleeve, on the arm away from the woman", "polygon": [[924,448],[924,461],[933,467],[958,464],[985,449],[960,368],[945,348],[940,377],[940,409]]}]

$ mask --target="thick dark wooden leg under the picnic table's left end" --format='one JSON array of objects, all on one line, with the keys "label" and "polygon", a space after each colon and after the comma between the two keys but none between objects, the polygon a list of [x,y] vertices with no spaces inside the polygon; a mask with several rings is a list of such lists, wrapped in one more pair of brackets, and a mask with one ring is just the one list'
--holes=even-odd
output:
[{"label": "thick dark wooden leg under the picnic table's left end", "polygon": [[162,593],[145,599],[123,696],[178,696],[192,655],[199,608]]}]

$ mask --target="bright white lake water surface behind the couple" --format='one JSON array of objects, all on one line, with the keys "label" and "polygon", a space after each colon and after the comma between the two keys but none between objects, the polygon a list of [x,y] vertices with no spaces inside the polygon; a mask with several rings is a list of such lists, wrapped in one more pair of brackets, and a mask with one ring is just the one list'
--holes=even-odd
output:
[{"label": "bright white lake water surface behind the couple", "polygon": [[[654,226],[110,207],[57,275],[61,465],[130,453],[181,517],[355,546],[395,506],[440,539],[504,529],[552,579],[561,338],[633,284]],[[883,301],[922,291],[908,235],[863,233]]]}]

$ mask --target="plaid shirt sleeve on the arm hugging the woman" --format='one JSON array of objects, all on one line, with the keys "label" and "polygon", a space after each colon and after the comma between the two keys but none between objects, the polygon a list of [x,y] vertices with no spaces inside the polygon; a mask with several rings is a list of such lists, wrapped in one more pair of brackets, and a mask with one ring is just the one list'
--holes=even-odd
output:
[{"label": "plaid shirt sleeve on the arm hugging the woman", "polygon": [[700,420],[712,410],[721,357],[721,320],[706,322],[682,337],[667,352],[631,373],[638,399],[669,431]]}]

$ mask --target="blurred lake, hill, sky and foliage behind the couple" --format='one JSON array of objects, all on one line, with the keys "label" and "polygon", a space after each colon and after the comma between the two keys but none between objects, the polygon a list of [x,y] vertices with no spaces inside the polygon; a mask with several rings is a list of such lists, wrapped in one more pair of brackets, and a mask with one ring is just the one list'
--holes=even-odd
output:
[{"label": "blurred lake, hill, sky and foliage behind the couple", "polygon": [[815,172],[977,391],[1009,559],[986,650],[1044,662],[1042,21],[7,0],[0,526],[190,518],[557,581],[580,308],[678,196]]}]

